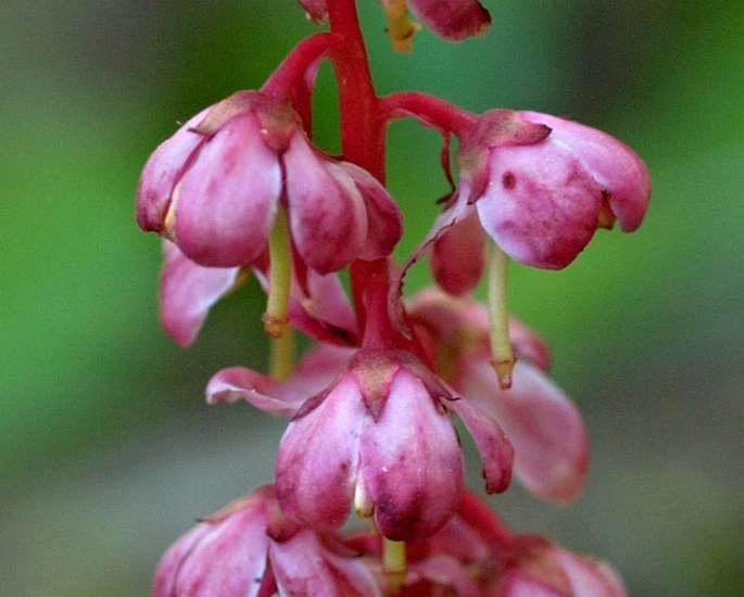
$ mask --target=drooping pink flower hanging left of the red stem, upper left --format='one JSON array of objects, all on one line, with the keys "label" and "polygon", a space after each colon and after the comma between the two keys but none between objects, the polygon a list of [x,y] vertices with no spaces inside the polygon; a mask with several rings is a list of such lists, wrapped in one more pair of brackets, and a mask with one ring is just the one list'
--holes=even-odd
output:
[{"label": "drooping pink flower hanging left of the red stem, upper left", "polygon": [[190,259],[245,266],[287,213],[298,254],[326,274],[392,251],[395,203],[365,170],[316,151],[287,105],[240,91],[201,112],[161,144],[137,190],[137,221]]}]

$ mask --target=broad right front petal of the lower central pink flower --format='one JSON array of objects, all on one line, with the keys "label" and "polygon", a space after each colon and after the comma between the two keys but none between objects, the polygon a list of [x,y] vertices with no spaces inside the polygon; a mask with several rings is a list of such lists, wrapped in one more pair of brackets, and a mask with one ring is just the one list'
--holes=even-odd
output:
[{"label": "broad right front petal of the lower central pink flower", "polygon": [[377,526],[396,541],[433,535],[463,492],[463,458],[449,417],[405,368],[393,378],[377,422],[362,435],[358,481],[375,505]]}]

